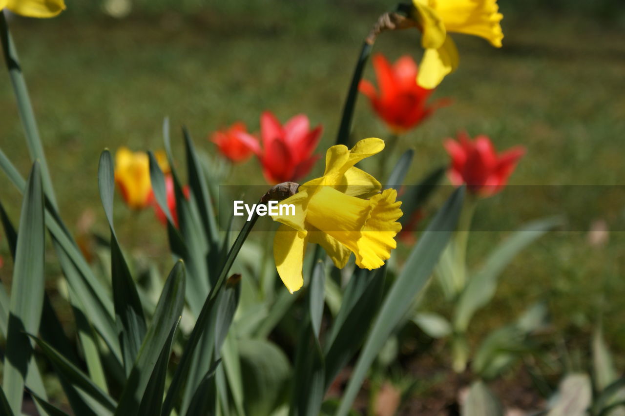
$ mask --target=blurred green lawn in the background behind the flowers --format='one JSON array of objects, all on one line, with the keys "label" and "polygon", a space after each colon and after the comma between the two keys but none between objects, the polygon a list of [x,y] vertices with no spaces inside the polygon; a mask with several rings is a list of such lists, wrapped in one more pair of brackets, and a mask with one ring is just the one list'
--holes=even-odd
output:
[{"label": "blurred green lawn in the background behind the flowers", "polygon": [[[174,129],[186,124],[197,146],[209,153],[214,152],[206,141],[209,132],[238,120],[257,130],[265,109],[282,121],[304,112],[312,124],[324,125],[320,152],[333,143],[361,39],[384,11],[382,2],[362,7],[294,2],[279,12],[254,4],[193,14],[159,10],[121,21],[70,12],[58,19],[11,22],[61,214],[73,231],[91,211],[94,230],[106,235],[96,182],[99,154],[104,147],[161,148],[164,116]],[[499,149],[527,147],[511,184],[623,183],[625,31],[587,16],[526,16],[526,11],[506,15],[501,50],[454,36],[461,66],[436,92],[454,104],[404,137],[402,149],[416,148],[407,182],[446,163],[442,139],[465,129],[489,135]],[[382,35],[375,51],[392,59],[402,54],[418,59],[421,53],[414,31]],[[0,72],[0,147],[26,175],[29,158],[14,97],[6,72]],[[366,77],[372,79],[370,67]],[[356,138],[386,136],[362,97],[355,126]],[[180,137],[178,131],[173,137]],[[321,164],[314,173],[320,170]],[[259,172],[250,161],[234,169],[229,183],[262,184]],[[0,189],[17,221],[21,197],[4,175]],[[528,204],[523,209],[531,212]],[[115,212],[128,250],[150,259],[163,256],[165,230],[151,212],[130,213],[119,199]],[[493,212],[488,220],[496,227],[506,215]],[[470,262],[479,264],[505,234],[472,235]],[[622,232],[612,232],[604,247],[590,247],[586,232],[547,235],[506,270],[496,299],[479,312],[472,329],[484,334],[546,299],[556,329],[567,334],[589,334],[602,310],[609,342],[625,349],[624,243]],[[8,257],[4,239],[0,252]],[[9,275],[9,265],[0,269],[3,280]],[[445,312],[441,299],[431,290],[426,307]]]}]

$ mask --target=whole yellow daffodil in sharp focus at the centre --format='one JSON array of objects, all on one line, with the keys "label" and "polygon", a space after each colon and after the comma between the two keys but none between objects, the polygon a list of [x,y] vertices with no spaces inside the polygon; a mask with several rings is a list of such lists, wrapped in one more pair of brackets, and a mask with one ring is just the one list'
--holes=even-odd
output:
[{"label": "whole yellow daffodil in sharp focus at the centre", "polygon": [[321,245],[339,269],[351,253],[358,267],[369,270],[391,257],[397,246],[394,237],[401,230],[397,192],[380,192],[380,182],[354,167],[382,149],[384,141],[376,138],[361,140],[351,150],[343,145],[330,147],[323,176],[302,184],[295,195],[279,204],[295,206],[295,215],[286,215],[287,209],[285,215],[272,215],[282,223],[274,239],[274,259],[289,292],[299,290],[304,282],[307,242]]}]

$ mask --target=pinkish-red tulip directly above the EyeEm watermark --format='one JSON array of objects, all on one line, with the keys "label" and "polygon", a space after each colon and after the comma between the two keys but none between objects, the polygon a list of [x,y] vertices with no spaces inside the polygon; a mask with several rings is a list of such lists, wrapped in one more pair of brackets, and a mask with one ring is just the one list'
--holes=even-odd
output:
[{"label": "pinkish-red tulip directly above the EyeEm watermark", "polygon": [[304,114],[297,114],[282,126],[271,112],[265,111],[261,115],[262,148],[251,134],[237,132],[237,136],[261,161],[267,182],[279,184],[296,181],[311,170],[319,159],[312,152],[319,143],[321,131],[321,126],[311,130]]}]

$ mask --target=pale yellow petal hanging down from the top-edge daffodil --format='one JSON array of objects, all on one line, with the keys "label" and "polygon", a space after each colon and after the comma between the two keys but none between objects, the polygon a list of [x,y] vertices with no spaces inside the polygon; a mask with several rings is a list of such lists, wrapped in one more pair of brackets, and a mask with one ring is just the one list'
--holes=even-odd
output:
[{"label": "pale yellow petal hanging down from the top-edge daffodil", "polygon": [[456,44],[447,36],[439,49],[426,49],[419,65],[417,84],[427,89],[436,88],[447,74],[456,70],[458,61]]}]

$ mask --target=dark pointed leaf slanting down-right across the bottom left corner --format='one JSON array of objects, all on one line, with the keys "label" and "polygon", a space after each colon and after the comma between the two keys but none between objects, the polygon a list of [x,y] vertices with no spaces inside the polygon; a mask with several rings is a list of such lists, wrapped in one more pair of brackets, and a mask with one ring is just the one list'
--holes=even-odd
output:
[{"label": "dark pointed leaf slanting down-right across the bottom left corner", "polygon": [[[100,404],[102,409],[106,410],[107,413],[112,414],[114,412],[115,407],[117,406],[115,400],[111,399],[106,392],[100,389],[98,385],[89,379],[89,377],[79,370],[78,367],[69,362],[65,357],[63,357],[63,355],[51,347],[51,345],[47,344],[47,342],[35,337],[34,335],[29,336],[35,340],[37,345],[39,345],[39,348],[41,348],[47,359],[50,360],[59,376],[68,380],[68,382],[70,382],[74,388],[80,392],[81,397],[83,397],[84,400],[89,401],[88,399],[91,398],[94,402]],[[96,412],[96,414],[97,413],[98,412]]]}]

